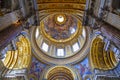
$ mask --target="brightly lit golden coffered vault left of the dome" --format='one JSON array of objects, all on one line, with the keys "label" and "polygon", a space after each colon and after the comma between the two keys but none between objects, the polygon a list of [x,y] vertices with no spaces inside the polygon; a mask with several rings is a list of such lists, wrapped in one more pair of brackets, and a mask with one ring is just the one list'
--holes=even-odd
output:
[{"label": "brightly lit golden coffered vault left of the dome", "polygon": [[16,43],[17,50],[7,51],[3,63],[8,69],[24,69],[29,68],[31,62],[30,42],[24,36],[19,37]]}]

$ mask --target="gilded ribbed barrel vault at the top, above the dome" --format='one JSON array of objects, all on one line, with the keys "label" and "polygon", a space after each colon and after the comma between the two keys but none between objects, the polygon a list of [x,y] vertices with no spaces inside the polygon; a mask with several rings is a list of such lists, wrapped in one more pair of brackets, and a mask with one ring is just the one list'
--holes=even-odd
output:
[{"label": "gilded ribbed barrel vault at the top, above the dome", "polygon": [[40,20],[51,13],[68,13],[82,19],[86,0],[37,0]]}]

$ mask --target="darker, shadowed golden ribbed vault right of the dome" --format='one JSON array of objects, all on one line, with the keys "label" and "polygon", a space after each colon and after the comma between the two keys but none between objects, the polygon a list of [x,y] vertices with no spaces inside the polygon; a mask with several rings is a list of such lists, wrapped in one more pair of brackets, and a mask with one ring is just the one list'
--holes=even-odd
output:
[{"label": "darker, shadowed golden ribbed vault right of the dome", "polygon": [[112,50],[105,51],[105,42],[100,37],[96,37],[91,46],[90,60],[92,68],[109,70],[118,64],[115,53]]}]

